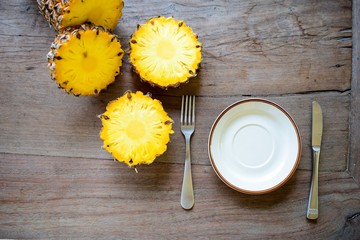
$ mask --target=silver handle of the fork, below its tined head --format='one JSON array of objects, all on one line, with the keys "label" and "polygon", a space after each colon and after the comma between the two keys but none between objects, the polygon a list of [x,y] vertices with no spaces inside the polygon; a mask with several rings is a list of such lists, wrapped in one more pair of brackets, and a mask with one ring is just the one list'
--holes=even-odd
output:
[{"label": "silver handle of the fork, below its tined head", "polygon": [[181,188],[181,206],[186,210],[190,210],[195,202],[191,176],[190,138],[186,138],[185,142],[185,168]]}]

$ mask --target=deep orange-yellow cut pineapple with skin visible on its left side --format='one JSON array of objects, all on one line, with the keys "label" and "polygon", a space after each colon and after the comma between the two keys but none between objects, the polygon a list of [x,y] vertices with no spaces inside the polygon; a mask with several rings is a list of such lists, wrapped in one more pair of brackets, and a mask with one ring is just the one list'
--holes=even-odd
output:
[{"label": "deep orange-yellow cut pineapple with skin visible on its left side", "polygon": [[74,95],[98,95],[120,73],[124,55],[116,35],[81,25],[56,36],[48,53],[51,78]]}]

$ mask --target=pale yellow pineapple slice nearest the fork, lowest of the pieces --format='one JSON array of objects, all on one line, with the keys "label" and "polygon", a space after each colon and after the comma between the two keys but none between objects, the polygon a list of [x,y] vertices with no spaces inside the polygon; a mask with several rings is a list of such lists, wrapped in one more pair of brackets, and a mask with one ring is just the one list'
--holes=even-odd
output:
[{"label": "pale yellow pineapple slice nearest the fork, lowest of the pieces", "polygon": [[130,91],[110,102],[99,116],[103,148],[119,162],[133,167],[150,164],[163,154],[170,141],[173,121],[160,101]]}]

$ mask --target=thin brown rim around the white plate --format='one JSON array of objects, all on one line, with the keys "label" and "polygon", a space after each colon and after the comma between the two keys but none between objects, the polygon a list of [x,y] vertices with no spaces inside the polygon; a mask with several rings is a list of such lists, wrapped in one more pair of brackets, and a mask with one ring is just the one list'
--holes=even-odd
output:
[{"label": "thin brown rim around the white plate", "polygon": [[[243,103],[246,103],[246,102],[262,102],[262,103],[266,103],[266,104],[269,104],[269,105],[272,105],[273,107],[276,107],[277,109],[279,109],[281,112],[283,112],[285,114],[285,116],[290,120],[290,122],[292,123],[295,131],[296,131],[296,136],[297,136],[297,141],[298,141],[298,153],[297,153],[297,157],[296,157],[296,162],[293,166],[293,168],[291,169],[290,173],[288,174],[288,176],[286,178],[284,178],[280,183],[278,183],[277,185],[271,187],[271,188],[268,188],[268,189],[264,189],[264,190],[260,190],[260,191],[249,191],[249,190],[246,190],[246,189],[242,189],[242,188],[239,188],[239,187],[236,187],[235,185],[231,184],[230,182],[228,182],[222,175],[221,173],[219,172],[219,170],[217,169],[216,167],[216,164],[212,158],[212,155],[211,155],[211,151],[210,151],[210,146],[211,146],[211,141],[212,141],[212,135],[213,135],[213,132],[214,132],[214,129],[216,127],[216,125],[218,124],[219,120],[230,110],[232,109],[233,107],[237,106],[237,105],[240,105],[240,104],[243,104]],[[229,187],[231,187],[232,189],[238,191],[238,192],[241,192],[241,193],[246,193],[246,194],[251,194],[251,195],[260,195],[260,194],[265,194],[265,193],[269,193],[269,192],[272,192],[278,188],[280,188],[282,185],[284,185],[292,176],[293,174],[295,173],[295,170],[297,169],[298,165],[299,165],[299,162],[300,162],[300,157],[301,157],[301,150],[302,150],[302,144],[301,144],[301,138],[300,138],[300,133],[299,133],[299,129],[294,121],[294,119],[291,117],[291,115],[283,108],[281,107],[280,105],[278,105],[277,103],[275,102],[272,102],[270,100],[266,100],[266,99],[263,99],[263,98],[248,98],[248,99],[244,99],[244,100],[240,100],[240,101],[237,101],[231,105],[229,105],[228,107],[226,107],[218,116],[217,118],[215,119],[213,125],[211,126],[211,129],[210,129],[210,134],[209,134],[209,140],[208,140],[208,154],[209,154],[209,159],[210,159],[210,162],[211,162],[211,165],[216,173],[216,175],[226,184],[228,185]]]}]

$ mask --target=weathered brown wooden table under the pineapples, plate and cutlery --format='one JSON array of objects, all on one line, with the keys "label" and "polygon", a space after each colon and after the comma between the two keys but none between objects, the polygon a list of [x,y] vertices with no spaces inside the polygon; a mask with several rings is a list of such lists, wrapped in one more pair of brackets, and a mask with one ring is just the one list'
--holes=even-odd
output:
[{"label": "weathered brown wooden table under the pineapples, plate and cutlery", "polygon": [[[198,76],[167,91],[140,82],[128,55],[98,97],[50,80],[55,32],[35,0],[0,2],[0,238],[360,238],[360,3],[351,1],[128,1],[116,33],[183,19],[203,43]],[[101,149],[97,115],[126,90],[152,92],[175,120],[168,151],[139,173]],[[180,96],[197,96],[192,139],[196,203],[180,207],[184,140]],[[227,187],[207,153],[229,104],[266,98],[295,119],[302,157],[280,189],[251,196]],[[311,102],[324,111],[317,221],[306,219],[312,169]]]}]

